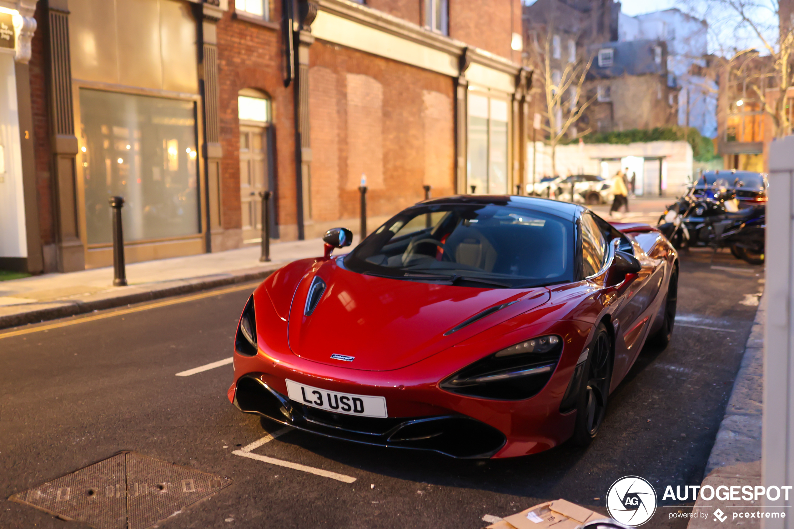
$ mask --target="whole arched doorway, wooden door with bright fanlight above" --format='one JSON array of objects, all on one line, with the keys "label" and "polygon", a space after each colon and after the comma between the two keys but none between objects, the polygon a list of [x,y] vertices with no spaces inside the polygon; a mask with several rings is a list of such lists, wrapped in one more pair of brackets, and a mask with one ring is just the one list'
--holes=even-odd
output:
[{"label": "whole arched doorway, wooden door with bright fanlight above", "polygon": [[[245,88],[237,94],[240,121],[240,208],[243,243],[260,243],[263,191],[276,192],[270,98],[259,90]],[[278,237],[276,200],[271,199],[271,236]]]}]

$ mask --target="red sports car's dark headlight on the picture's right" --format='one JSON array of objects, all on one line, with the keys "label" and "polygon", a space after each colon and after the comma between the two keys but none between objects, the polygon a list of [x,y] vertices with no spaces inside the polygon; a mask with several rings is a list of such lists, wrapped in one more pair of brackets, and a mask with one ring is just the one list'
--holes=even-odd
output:
[{"label": "red sports car's dark headlight on the picture's right", "polygon": [[441,381],[441,388],[471,397],[522,401],[543,389],[561,351],[557,335],[524,340],[464,367]]}]

